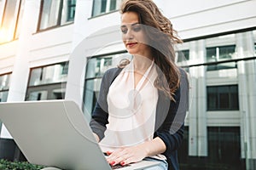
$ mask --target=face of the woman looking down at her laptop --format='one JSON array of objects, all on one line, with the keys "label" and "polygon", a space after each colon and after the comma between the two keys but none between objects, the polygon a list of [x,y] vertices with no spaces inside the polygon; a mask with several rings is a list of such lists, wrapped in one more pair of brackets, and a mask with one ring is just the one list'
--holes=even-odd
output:
[{"label": "face of the woman looking down at her laptop", "polygon": [[135,12],[125,12],[121,18],[121,31],[125,48],[130,54],[142,55],[150,58],[150,48],[143,25],[139,23],[139,16]]}]

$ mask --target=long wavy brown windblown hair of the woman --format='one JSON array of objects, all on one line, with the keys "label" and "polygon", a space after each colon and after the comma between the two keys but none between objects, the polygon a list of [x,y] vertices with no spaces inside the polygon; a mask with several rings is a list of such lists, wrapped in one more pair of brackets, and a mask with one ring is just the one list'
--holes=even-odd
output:
[{"label": "long wavy brown windblown hair of the woman", "polygon": [[121,4],[120,14],[125,12],[138,14],[143,31],[148,36],[147,45],[150,46],[154,63],[158,67],[155,88],[175,101],[174,95],[179,87],[180,71],[175,64],[174,45],[182,42],[177,37],[177,31],[173,30],[171,21],[161,14],[152,0],[125,0]]}]

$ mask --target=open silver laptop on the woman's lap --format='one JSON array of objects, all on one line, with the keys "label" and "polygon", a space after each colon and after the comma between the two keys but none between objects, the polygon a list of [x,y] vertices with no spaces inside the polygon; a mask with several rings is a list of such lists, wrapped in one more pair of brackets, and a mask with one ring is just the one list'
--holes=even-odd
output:
[{"label": "open silver laptop on the woman's lap", "polygon": [[[73,101],[0,103],[0,120],[33,164],[61,169],[112,169],[83,112]],[[143,169],[156,164],[140,161],[120,169]]]}]

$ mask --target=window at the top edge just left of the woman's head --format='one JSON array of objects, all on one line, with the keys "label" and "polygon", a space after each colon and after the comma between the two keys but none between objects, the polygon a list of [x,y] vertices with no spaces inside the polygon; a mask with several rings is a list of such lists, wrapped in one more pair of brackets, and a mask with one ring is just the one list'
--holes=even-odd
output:
[{"label": "window at the top edge just left of the woman's head", "polygon": [[106,14],[119,8],[122,0],[94,0],[92,16]]}]

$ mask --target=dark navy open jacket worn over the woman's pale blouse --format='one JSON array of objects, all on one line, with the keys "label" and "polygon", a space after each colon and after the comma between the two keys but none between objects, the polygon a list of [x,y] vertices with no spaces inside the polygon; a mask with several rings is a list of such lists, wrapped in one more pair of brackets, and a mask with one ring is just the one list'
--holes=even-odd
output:
[{"label": "dark navy open jacket worn over the woman's pale blouse", "polygon": [[[120,68],[112,68],[105,72],[102,77],[100,94],[96,102],[96,107],[92,113],[90,127],[96,133],[100,140],[104,138],[106,125],[108,124],[108,88],[111,83],[122,71]],[[166,151],[162,153],[166,156],[168,169],[177,170],[177,149],[182,143],[183,127],[186,111],[188,110],[189,82],[187,74],[183,69],[181,71],[180,86],[175,92],[174,99],[171,101],[160,90],[156,108],[155,132],[154,138],[159,137],[166,144]]]}]

